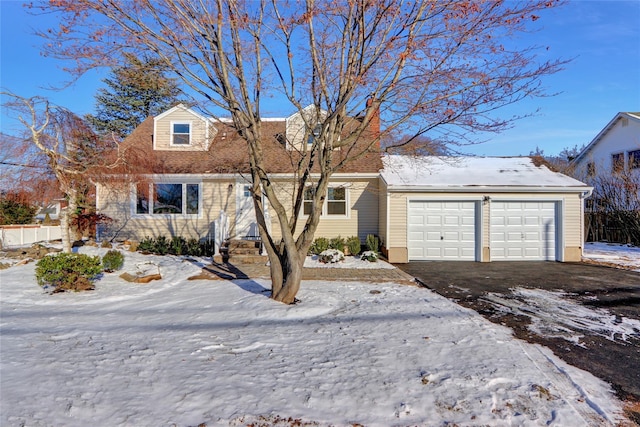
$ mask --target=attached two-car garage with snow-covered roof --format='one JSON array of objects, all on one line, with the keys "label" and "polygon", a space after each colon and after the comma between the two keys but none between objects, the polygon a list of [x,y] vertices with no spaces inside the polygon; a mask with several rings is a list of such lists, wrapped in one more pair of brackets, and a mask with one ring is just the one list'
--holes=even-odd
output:
[{"label": "attached two-car garage with snow-covered roof", "polygon": [[579,261],[591,187],[528,157],[387,156],[380,237],[391,262]]}]

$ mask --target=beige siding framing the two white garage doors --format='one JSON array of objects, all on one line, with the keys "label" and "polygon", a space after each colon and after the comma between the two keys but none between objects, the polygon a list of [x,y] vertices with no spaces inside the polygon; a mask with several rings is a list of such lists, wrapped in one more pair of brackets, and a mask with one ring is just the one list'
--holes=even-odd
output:
[{"label": "beige siding framing the two white garage doors", "polygon": [[[486,199],[488,198],[488,199]],[[384,250],[391,262],[408,262],[407,208],[409,200],[475,200],[480,202],[481,227],[479,238],[480,261],[490,260],[490,204],[494,200],[507,201],[554,201],[559,206],[558,236],[561,253],[557,258],[563,261],[580,261],[582,256],[582,203],[579,193],[390,193],[388,230],[380,231],[388,238]],[[486,200],[484,200],[486,199]],[[484,200],[484,201],[483,201]]]}]

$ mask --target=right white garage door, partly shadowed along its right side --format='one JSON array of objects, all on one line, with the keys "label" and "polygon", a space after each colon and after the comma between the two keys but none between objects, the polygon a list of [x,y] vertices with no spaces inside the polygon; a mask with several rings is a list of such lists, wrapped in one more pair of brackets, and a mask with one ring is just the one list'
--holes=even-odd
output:
[{"label": "right white garage door, partly shadowed along its right side", "polygon": [[554,202],[492,202],[491,261],[555,261]]}]

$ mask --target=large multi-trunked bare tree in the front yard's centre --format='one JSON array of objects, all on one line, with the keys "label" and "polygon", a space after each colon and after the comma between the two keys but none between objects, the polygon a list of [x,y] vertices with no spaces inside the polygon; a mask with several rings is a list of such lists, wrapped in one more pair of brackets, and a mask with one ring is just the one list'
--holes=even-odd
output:
[{"label": "large multi-trunked bare tree in the front yard's centre", "polygon": [[[470,132],[509,127],[515,118],[500,118],[496,109],[543,95],[540,79],[562,66],[538,62],[535,48],[512,40],[557,3],[57,0],[42,9],[58,12],[60,27],[42,35],[52,41],[46,52],[75,60],[76,73],[126,52],[154,55],[209,114],[231,115],[247,142],[272,297],[292,303],[332,174],[379,150],[384,134],[470,141]],[[264,98],[275,94],[301,113],[305,140],[312,137],[293,150],[292,201],[278,196],[265,167],[260,117]],[[378,116],[385,128],[370,132]],[[307,189],[313,208],[296,235]],[[268,232],[263,194],[281,240]]]}]

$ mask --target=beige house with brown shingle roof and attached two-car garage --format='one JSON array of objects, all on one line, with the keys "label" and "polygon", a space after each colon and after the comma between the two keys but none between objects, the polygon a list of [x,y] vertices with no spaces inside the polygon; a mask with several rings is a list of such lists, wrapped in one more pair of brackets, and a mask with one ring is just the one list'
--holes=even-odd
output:
[{"label": "beige house with brown shingle roof and attached two-car garage", "polygon": [[[309,134],[302,114],[261,121],[266,167],[285,196],[292,153]],[[370,131],[378,126],[374,120]],[[117,220],[105,235],[257,237],[246,143],[230,122],[178,105],[143,122],[121,148],[141,179],[97,185],[98,211]],[[529,158],[383,157],[375,147],[333,174],[316,236],[375,234],[397,263],[578,261],[589,191]]]}]

